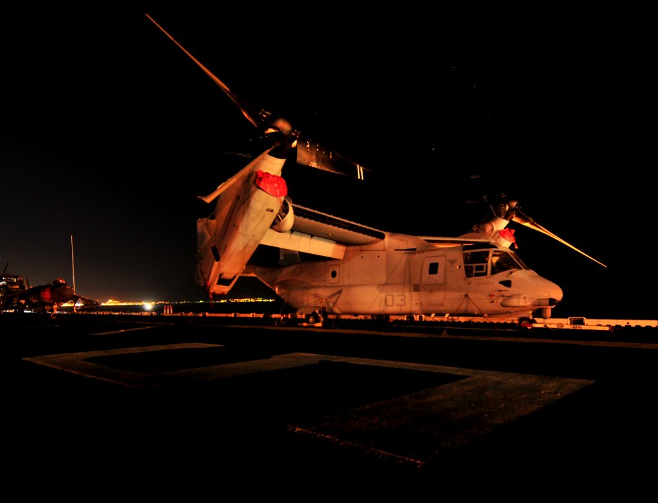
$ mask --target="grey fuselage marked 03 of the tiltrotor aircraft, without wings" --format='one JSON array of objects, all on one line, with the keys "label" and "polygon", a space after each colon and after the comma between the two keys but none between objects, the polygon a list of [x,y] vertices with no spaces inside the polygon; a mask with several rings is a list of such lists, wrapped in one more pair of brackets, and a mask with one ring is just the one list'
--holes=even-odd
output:
[{"label": "grey fuselage marked 03 of the tiltrotor aircraft, without wings", "polygon": [[254,272],[300,314],[530,316],[540,310],[548,318],[562,299],[558,285],[507,248],[437,247],[408,235],[348,246],[341,260]]}]

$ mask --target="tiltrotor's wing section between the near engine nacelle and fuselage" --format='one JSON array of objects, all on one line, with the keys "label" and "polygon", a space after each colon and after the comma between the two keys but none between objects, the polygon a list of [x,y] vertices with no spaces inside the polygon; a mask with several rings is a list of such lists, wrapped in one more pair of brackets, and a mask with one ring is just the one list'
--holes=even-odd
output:
[{"label": "tiltrotor's wing section between the near engine nacelle and fuselage", "polygon": [[269,229],[260,244],[276,246],[322,257],[342,259],[345,245],[366,245],[382,241],[386,233],[344,218],[291,203],[292,229],[279,233]]}]

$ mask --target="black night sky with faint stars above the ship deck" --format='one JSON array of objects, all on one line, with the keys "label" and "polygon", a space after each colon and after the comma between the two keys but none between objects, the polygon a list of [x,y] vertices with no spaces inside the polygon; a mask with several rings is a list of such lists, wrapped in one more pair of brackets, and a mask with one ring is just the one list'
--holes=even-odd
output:
[{"label": "black night sky with faint stars above the ship deck", "polygon": [[[655,319],[655,54],[648,12],[273,5],[3,8],[1,266],[105,301],[206,299],[197,218],[254,128],[147,19],[239,97],[371,169],[290,166],[294,202],[385,231],[459,235],[483,194],[519,226],[555,317]],[[478,175],[480,178],[471,178]],[[513,224],[512,224],[513,225]],[[646,257],[646,258],[645,258]],[[254,288],[258,287],[258,288]],[[232,296],[267,292],[240,281]]]}]

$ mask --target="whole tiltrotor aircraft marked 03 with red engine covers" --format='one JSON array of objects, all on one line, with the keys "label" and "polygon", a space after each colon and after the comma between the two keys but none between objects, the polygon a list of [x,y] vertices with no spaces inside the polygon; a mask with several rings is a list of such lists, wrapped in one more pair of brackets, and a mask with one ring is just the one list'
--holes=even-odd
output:
[{"label": "whole tiltrotor aircraft marked 03 with red engine covers", "polygon": [[[282,178],[291,149],[297,149],[297,164],[341,174],[348,165],[358,178],[366,170],[305,140],[286,120],[256,112],[146,15],[270,140],[260,155],[202,197],[208,204],[216,201],[215,211],[197,221],[198,281],[211,297],[253,275],[314,324],[341,314],[550,318],[562,290],[510,249],[515,237],[507,224],[528,226],[592,259],[505,198],[487,200],[493,214],[459,237],[390,233],[293,204]],[[259,246],[279,248],[277,266],[251,263]],[[316,259],[302,261],[300,253]]]}]

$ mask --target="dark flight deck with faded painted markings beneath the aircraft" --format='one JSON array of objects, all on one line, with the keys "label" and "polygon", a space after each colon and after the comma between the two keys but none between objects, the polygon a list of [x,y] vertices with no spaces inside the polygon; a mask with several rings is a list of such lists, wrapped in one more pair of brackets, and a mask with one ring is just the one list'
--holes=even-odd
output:
[{"label": "dark flight deck with faded painted markings beneath the aircraft", "polygon": [[10,454],[33,473],[64,469],[56,453],[66,452],[66,471],[148,465],[206,482],[623,477],[650,469],[658,447],[655,329],[544,336],[79,314],[0,326],[19,439]]}]

